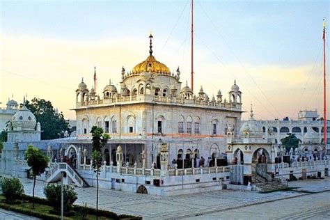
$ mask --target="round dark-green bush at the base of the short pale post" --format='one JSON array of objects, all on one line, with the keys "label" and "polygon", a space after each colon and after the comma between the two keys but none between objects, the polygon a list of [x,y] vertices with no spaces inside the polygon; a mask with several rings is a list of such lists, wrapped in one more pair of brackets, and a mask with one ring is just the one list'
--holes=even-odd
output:
[{"label": "round dark-green bush at the base of the short pale post", "polygon": [[[63,186],[63,189],[64,212],[69,212],[72,204],[77,200],[77,193],[68,185]],[[54,210],[58,211],[61,209],[61,184],[47,184],[44,188],[44,194]]]}]

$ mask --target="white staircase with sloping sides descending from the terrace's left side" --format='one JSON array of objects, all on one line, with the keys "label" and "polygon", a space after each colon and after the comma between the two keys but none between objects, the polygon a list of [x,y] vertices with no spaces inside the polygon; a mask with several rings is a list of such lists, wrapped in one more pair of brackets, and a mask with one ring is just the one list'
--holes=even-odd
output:
[{"label": "white staircase with sloping sides descending from the terrace's left side", "polygon": [[[46,182],[58,182],[61,180],[62,172],[66,173],[66,176],[70,182],[77,185],[77,187],[89,187],[88,183],[81,178],[81,175],[74,171],[74,169],[66,163],[52,164],[50,171],[46,174]],[[68,182],[69,183],[69,182]],[[68,184],[67,183],[67,184]]]}]

